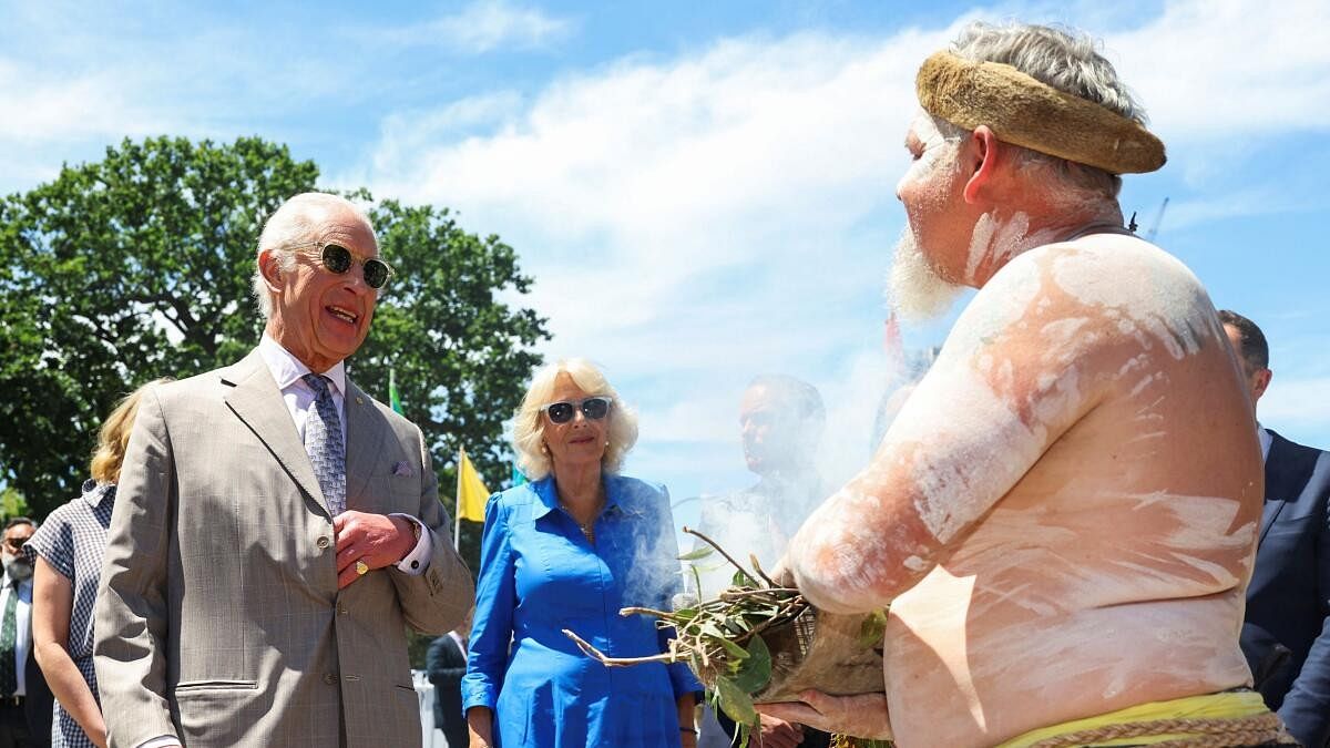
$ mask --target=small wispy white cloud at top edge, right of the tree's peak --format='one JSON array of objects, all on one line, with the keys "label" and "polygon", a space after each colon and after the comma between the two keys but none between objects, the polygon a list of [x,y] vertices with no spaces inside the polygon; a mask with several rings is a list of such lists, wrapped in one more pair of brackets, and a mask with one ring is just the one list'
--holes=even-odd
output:
[{"label": "small wispy white cloud at top edge, right of the tree's peak", "polygon": [[430,45],[480,55],[497,49],[539,49],[567,39],[573,23],[536,8],[517,8],[501,0],[480,0],[460,13],[376,36],[395,44]]}]

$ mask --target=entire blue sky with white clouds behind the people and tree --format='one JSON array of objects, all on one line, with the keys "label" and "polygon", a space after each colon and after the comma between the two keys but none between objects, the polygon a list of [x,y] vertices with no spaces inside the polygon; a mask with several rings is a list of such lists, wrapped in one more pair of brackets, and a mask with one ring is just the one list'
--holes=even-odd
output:
[{"label": "entire blue sky with white clouds behind the people and tree", "polygon": [[[839,479],[892,374],[914,73],[976,17],[1104,39],[1169,149],[1127,178],[1125,210],[1148,229],[1169,198],[1158,244],[1270,338],[1262,421],[1330,446],[1323,0],[0,0],[0,190],[126,136],[286,142],[329,186],[447,205],[513,245],[544,353],[600,362],[638,407],[629,472],[676,498],[750,483],[738,399],[774,371],[821,387]],[[954,315],[906,345],[940,343]]]}]

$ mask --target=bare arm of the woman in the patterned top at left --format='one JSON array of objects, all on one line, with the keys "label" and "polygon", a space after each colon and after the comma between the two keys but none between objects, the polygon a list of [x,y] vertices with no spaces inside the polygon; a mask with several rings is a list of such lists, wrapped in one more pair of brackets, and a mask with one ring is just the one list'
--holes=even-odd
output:
[{"label": "bare arm of the woman in the patterned top at left", "polygon": [[32,582],[32,651],[56,700],[93,744],[106,745],[106,723],[78,665],[69,656],[69,616],[73,584],[47,559],[37,556]]}]

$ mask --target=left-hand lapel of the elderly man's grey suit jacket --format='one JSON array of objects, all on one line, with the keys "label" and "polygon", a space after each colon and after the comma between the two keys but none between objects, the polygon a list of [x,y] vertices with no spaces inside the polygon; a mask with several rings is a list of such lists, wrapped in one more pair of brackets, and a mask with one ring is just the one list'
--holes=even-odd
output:
[{"label": "left-hand lapel of the elderly man's grey suit jacket", "polygon": [[267,370],[258,351],[222,370],[222,382],[234,387],[223,398],[231,411],[267,446],[301,490],[331,518],[332,512],[329,511],[323,490],[314,476],[310,455],[301,443],[299,431],[295,430],[286,402],[282,401],[282,393],[273,381],[273,373]]}]

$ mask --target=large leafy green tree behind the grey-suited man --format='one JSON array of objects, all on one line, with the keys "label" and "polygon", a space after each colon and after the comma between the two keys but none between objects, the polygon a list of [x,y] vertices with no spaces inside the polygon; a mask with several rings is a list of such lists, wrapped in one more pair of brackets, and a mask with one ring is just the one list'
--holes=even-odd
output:
[{"label": "large leafy green tree behind the grey-suited man", "polygon": [[[318,173],[259,138],[126,140],[0,202],[0,479],[35,514],[77,492],[96,429],[120,397],[253,347],[262,323],[249,280],[262,221],[315,189]],[[497,475],[501,421],[539,362],[529,346],[547,337],[544,321],[499,301],[531,281],[497,237],[467,234],[431,206],[386,201],[374,218],[399,276],[350,367],[380,399],[396,367],[451,504],[459,443],[487,478]]]}]

